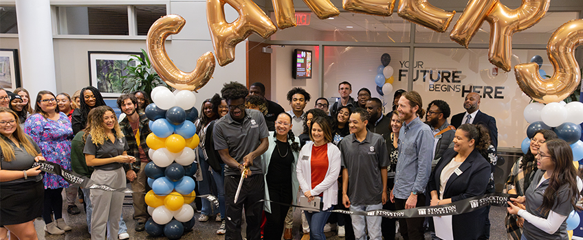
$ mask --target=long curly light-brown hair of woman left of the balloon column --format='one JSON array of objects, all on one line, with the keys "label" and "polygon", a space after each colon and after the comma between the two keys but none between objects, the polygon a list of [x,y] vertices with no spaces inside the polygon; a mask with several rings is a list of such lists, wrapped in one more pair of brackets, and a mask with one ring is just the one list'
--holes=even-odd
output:
[{"label": "long curly light-brown hair of woman left of the balloon column", "polygon": [[105,132],[106,130],[103,124],[103,115],[105,115],[105,112],[108,111],[113,113],[113,134],[118,139],[122,139],[124,137],[124,134],[120,129],[120,125],[118,124],[118,118],[115,117],[115,112],[113,112],[113,109],[109,106],[98,106],[91,109],[87,115],[87,128],[85,128],[83,139],[87,139],[87,134],[91,134],[91,142],[93,142],[95,145],[103,145],[103,143],[107,140],[107,133]]}]

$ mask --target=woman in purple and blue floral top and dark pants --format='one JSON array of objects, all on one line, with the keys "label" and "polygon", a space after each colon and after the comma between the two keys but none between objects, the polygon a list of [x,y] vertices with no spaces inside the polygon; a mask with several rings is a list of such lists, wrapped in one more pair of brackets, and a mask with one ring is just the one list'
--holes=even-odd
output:
[{"label": "woman in purple and blue floral top and dark pants", "polygon": [[[34,114],[25,122],[25,132],[32,137],[36,145],[39,145],[43,156],[47,161],[61,165],[63,169],[71,171],[71,141],[73,131],[67,115],[56,110],[56,98],[50,91],[40,91],[36,95]],[[45,208],[43,219],[47,224],[47,232],[52,235],[62,235],[63,231],[72,230],[63,220],[63,188],[69,187],[69,183],[61,176],[45,173]],[[56,220],[54,226],[51,214]]]}]

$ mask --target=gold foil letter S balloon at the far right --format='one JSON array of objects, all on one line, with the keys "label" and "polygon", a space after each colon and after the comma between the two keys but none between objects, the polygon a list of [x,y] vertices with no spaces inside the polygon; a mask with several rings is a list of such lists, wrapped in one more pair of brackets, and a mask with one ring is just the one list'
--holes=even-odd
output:
[{"label": "gold foil letter S balloon at the far right", "polygon": [[581,82],[575,48],[583,45],[583,19],[569,21],[560,26],[549,39],[547,55],[553,68],[553,77],[544,80],[535,62],[514,66],[516,82],[522,92],[544,104],[569,97]]}]

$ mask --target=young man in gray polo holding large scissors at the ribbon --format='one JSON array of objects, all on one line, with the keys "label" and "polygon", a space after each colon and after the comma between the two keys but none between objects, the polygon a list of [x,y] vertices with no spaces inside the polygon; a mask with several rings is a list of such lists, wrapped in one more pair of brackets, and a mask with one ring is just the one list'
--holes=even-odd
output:
[{"label": "young man in gray polo holding large scissors at the ribbon", "polygon": [[[261,154],[269,145],[267,125],[263,114],[257,110],[245,109],[247,88],[238,82],[225,84],[221,95],[227,101],[229,114],[214,123],[212,137],[225,162],[225,227],[226,240],[241,239],[241,213],[245,208],[247,239],[261,239],[261,211],[263,204],[256,204],[265,196]],[[248,170],[245,170],[247,169]],[[243,171],[247,177],[239,198],[234,202],[235,193]]]}]

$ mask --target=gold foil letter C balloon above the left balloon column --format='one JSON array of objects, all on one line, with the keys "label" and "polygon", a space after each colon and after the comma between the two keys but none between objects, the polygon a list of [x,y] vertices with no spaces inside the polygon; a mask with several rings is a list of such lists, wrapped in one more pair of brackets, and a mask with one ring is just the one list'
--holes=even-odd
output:
[{"label": "gold foil letter C balloon above the left balloon column", "polygon": [[186,21],[176,14],[163,16],[154,22],[148,31],[146,46],[152,67],[166,84],[180,90],[197,91],[203,87],[214,72],[214,56],[208,51],[197,60],[197,67],[190,73],[180,71],[168,58],[164,43],[170,34],[177,34]]}]

